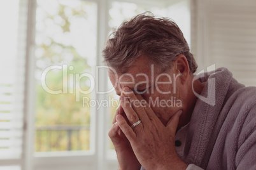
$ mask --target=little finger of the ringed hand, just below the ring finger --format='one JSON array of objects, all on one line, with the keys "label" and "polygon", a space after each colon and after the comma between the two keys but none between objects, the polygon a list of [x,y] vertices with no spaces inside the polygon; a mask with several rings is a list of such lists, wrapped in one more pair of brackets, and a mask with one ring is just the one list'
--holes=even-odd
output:
[{"label": "little finger of the ringed hand, just below the ring finger", "polygon": [[136,134],[132,130],[131,126],[127,124],[127,122],[125,121],[124,117],[122,117],[122,115],[119,115],[119,114],[117,115],[117,124],[119,128],[122,130],[122,132],[125,134],[126,138],[130,142],[134,141],[134,139],[136,138]]}]

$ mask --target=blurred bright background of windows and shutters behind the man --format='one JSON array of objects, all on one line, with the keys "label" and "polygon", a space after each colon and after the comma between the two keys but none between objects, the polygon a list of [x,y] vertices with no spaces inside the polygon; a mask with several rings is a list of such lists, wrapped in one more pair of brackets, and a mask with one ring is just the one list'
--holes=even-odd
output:
[{"label": "blurred bright background of windows and shutters behind the man", "polygon": [[197,72],[227,67],[256,86],[255,9],[254,0],[1,0],[0,170],[117,169],[108,130],[118,96],[98,66],[110,32],[144,11],[179,25]]}]

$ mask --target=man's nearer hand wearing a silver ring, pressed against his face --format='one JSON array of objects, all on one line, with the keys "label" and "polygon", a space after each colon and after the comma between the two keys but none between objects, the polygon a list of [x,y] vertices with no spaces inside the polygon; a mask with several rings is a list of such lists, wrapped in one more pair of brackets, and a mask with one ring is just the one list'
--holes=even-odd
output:
[{"label": "man's nearer hand wearing a silver ring, pressed against his face", "polygon": [[[181,112],[173,115],[167,126],[164,126],[141,95],[134,95],[129,88],[122,91],[120,105],[124,109],[129,123],[125,121],[124,116],[118,114],[117,124],[146,170],[187,168],[187,164],[176,154],[174,145]],[[141,123],[132,129],[129,124],[134,124],[139,120]]]}]

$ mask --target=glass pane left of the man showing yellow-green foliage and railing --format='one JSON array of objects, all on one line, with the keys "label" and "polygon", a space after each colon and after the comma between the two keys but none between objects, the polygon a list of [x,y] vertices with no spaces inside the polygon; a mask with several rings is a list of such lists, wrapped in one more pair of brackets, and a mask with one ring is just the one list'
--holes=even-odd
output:
[{"label": "glass pane left of the man showing yellow-green foliage and railing", "polygon": [[96,65],[96,3],[38,0],[35,152],[90,150],[90,79]]}]

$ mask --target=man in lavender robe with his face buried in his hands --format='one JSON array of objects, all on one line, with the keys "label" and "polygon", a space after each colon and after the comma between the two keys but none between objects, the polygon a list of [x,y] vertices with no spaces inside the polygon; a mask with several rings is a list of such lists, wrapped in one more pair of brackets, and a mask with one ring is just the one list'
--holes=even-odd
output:
[{"label": "man in lavender robe with his face buried in his hands", "polygon": [[119,169],[256,169],[256,88],[225,68],[194,75],[174,22],[135,16],[103,55],[120,95],[109,132]]}]

